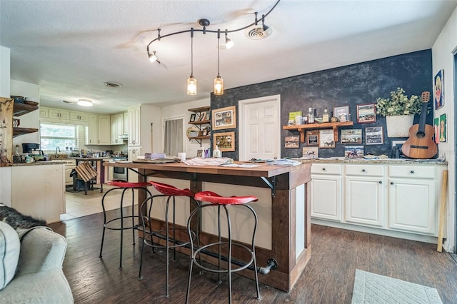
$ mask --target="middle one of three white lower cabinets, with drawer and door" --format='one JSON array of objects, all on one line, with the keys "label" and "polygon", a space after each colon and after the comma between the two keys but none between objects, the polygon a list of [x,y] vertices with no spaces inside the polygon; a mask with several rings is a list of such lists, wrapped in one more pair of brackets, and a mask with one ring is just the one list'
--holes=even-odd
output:
[{"label": "middle one of three white lower cabinets, with drawer and door", "polygon": [[346,222],[384,225],[383,166],[346,165]]}]

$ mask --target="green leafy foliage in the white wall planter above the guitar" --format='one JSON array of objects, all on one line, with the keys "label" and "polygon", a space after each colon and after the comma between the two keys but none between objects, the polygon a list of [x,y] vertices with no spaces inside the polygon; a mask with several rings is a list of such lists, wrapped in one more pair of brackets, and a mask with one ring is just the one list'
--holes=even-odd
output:
[{"label": "green leafy foliage in the white wall planter above the guitar", "polygon": [[376,99],[376,113],[381,116],[418,114],[422,110],[422,101],[416,95],[410,98],[403,88],[391,92],[391,98]]}]

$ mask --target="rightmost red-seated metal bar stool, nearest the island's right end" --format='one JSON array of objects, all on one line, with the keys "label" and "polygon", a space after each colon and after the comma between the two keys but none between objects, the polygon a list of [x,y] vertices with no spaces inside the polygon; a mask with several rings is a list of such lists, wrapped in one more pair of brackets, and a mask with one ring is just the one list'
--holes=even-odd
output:
[{"label": "rightmost red-seated metal bar stool, nearest the island's right end", "polygon": [[[231,303],[231,273],[243,270],[248,268],[251,264],[254,266],[254,273],[255,273],[255,279],[256,279],[256,291],[257,291],[257,299],[261,299],[260,295],[260,290],[258,289],[258,275],[257,275],[257,262],[256,262],[256,247],[254,245],[254,241],[256,238],[256,229],[257,229],[257,215],[256,211],[253,210],[251,206],[246,205],[246,203],[251,203],[251,202],[256,202],[258,198],[256,196],[231,196],[231,197],[224,197],[224,196],[219,196],[219,194],[211,192],[211,191],[204,191],[204,192],[199,192],[196,193],[194,196],[196,201],[202,201],[202,202],[208,202],[209,204],[201,204],[199,208],[196,208],[194,211],[189,216],[189,220],[187,221],[187,227],[189,229],[189,234],[191,233],[190,231],[190,224],[192,221],[192,218],[198,214],[201,213],[201,210],[203,208],[207,207],[217,207],[217,216],[218,216],[218,241],[216,243],[210,243],[208,245],[204,245],[200,248],[197,248],[194,250],[194,243],[191,241],[191,262],[189,266],[189,280],[187,284],[187,293],[186,293],[186,303],[189,303],[189,293],[191,291],[191,276],[192,276],[192,266],[195,264],[199,268],[209,271],[211,273],[218,273],[219,275],[219,281],[218,283],[221,283],[221,274],[222,273],[227,273],[229,276],[228,281],[229,281],[229,303]],[[252,243],[251,243],[251,248],[248,246],[242,244],[242,243],[233,243],[231,239],[231,221],[230,221],[230,215],[229,215],[229,206],[243,206],[245,208],[248,208],[249,211],[251,211],[253,217],[254,217],[254,227],[253,227],[253,233],[252,233]],[[221,238],[221,208],[224,208],[224,211],[226,213],[226,218],[227,218],[227,230],[228,230],[228,239],[227,240],[222,240]],[[228,251],[226,253],[226,261],[227,261],[227,269],[221,269],[221,245],[227,244],[229,245]],[[232,268],[232,258],[231,258],[231,252],[232,252],[232,245],[238,246],[241,248],[244,248],[245,250],[248,251],[248,253],[251,253],[251,259],[248,262],[243,262],[244,265],[239,266],[239,268]],[[201,265],[201,261],[196,259],[196,255],[199,255],[202,250],[206,250],[206,248],[210,248],[212,246],[218,246],[218,255],[219,255],[219,263],[218,263],[218,268],[206,268],[204,265]],[[204,253],[204,252],[202,252]],[[238,263],[239,265],[239,263]]]}]

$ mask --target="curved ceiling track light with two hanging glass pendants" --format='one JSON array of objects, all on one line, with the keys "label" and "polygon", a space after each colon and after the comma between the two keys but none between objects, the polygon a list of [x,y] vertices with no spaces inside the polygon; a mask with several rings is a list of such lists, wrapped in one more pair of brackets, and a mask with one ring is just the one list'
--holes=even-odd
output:
[{"label": "curved ceiling track light with two hanging glass pendants", "polygon": [[[169,36],[174,36],[177,34],[184,34],[184,33],[190,32],[191,33],[191,76],[189,76],[189,78],[187,79],[187,93],[189,95],[196,95],[197,80],[194,77],[194,32],[198,31],[203,34],[206,34],[206,33],[217,34],[217,41],[218,41],[217,76],[214,79],[214,94],[222,95],[224,93],[224,80],[221,78],[221,75],[219,74],[219,64],[220,64],[219,50],[220,49],[230,49],[233,46],[234,43],[231,39],[229,39],[228,34],[234,33],[236,31],[243,31],[246,29],[247,30],[246,36],[248,36],[248,38],[250,38],[250,39],[256,39],[256,40],[265,39],[266,37],[270,36],[272,29],[270,26],[267,26],[265,24],[265,18],[266,18],[266,16],[268,16],[268,14],[271,13],[271,11],[273,11],[273,9],[276,8],[276,6],[279,4],[279,1],[281,1],[281,0],[276,1],[276,3],[273,5],[273,7],[271,7],[271,9],[266,14],[262,14],[261,19],[257,19],[258,13],[256,12],[255,19],[252,24],[248,24],[239,29],[233,29],[233,30],[226,29],[225,30],[225,44],[219,44],[220,39],[221,39],[221,29],[218,29],[217,31],[206,29],[206,27],[210,25],[210,21],[208,19],[199,19],[199,24],[200,24],[200,26],[203,26],[203,29],[191,28],[189,30],[176,31],[174,33],[166,34],[164,36],[161,36],[161,34],[160,34],[161,29],[157,29],[157,31],[159,32],[159,34],[157,34],[157,38],[152,40],[151,42],[149,42],[149,44],[146,46],[146,51],[147,51],[149,60],[151,62],[156,61],[157,63],[160,64],[160,61],[157,60],[156,51],[152,51],[152,53],[149,51],[151,44],[153,44],[155,41],[160,41],[161,39],[169,37]],[[261,21],[261,27],[258,26],[258,23],[260,21]]]}]

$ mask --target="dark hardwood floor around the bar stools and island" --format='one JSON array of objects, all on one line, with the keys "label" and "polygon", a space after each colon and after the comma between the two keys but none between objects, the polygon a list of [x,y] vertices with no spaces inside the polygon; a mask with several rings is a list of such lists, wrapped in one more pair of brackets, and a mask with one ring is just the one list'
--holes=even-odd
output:
[{"label": "dark hardwood floor around the bar stools and island", "polygon": [[[107,231],[99,258],[102,225],[101,213],[50,225],[69,243],[64,273],[75,303],[184,303],[186,255],[171,262],[170,297],[164,298],[164,253],[145,250],[144,278],[137,280],[141,242],[137,238],[131,245],[131,231],[124,232],[124,268],[119,269],[118,231]],[[443,303],[457,303],[457,265],[436,245],[317,225],[311,237],[311,260],[291,293],[261,284],[259,301],[253,280],[233,275],[233,303],[351,303],[356,268],[436,288]],[[191,303],[226,303],[226,280],[221,285],[214,280],[216,275],[196,270]]]}]

